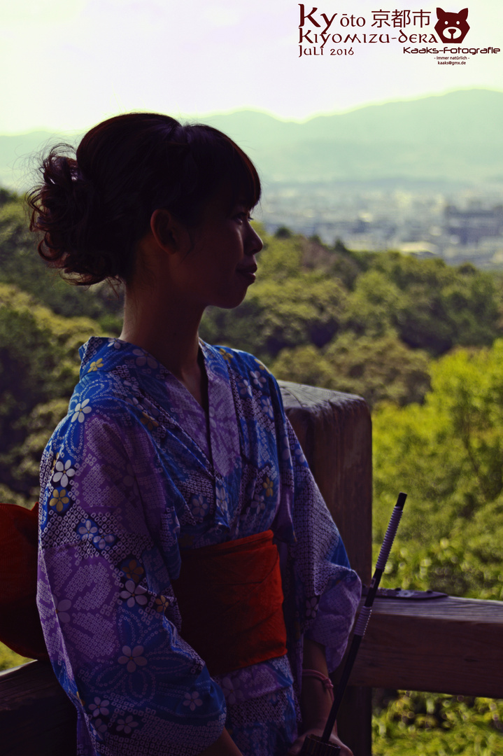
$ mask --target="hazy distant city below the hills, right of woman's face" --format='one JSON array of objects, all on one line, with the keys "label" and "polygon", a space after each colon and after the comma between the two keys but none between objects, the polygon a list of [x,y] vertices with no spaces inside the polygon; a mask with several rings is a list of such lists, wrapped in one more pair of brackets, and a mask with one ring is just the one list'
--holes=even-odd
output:
[{"label": "hazy distant city below the hills, right of woman's face", "polygon": [[349,249],[398,249],[452,264],[503,267],[503,183],[270,183],[261,220],[272,233],[287,226],[328,244],[340,239]]}]

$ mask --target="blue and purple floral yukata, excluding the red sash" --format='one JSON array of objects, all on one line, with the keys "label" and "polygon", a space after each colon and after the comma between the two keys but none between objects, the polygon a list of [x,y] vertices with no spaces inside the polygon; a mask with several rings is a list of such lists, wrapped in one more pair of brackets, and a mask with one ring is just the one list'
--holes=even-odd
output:
[{"label": "blue and purple floral yukata, excluding the red sash", "polygon": [[[304,634],[331,670],[347,643],[360,581],[279,387],[252,355],[200,349],[208,415],[143,349],[91,338],[42,457],[37,603],[79,756],[196,756],[224,726],[245,756],[283,756]],[[288,653],[211,677],[171,586],[181,551],[269,529]]]}]

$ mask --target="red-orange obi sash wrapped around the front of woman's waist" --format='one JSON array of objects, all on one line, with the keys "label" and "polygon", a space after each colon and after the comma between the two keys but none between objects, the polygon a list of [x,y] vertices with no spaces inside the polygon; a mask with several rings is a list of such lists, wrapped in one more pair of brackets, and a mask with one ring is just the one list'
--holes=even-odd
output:
[{"label": "red-orange obi sash wrapped around the front of woman's waist", "polygon": [[273,531],[181,552],[173,581],[184,640],[210,674],[286,653],[279,554]]}]

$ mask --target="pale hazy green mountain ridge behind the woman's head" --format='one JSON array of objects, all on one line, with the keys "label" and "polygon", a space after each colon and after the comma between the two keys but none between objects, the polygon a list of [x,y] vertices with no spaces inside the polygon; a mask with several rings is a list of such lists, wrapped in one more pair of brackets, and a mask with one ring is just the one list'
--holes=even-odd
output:
[{"label": "pale hazy green mountain ridge behind the woman's head", "polygon": [[[202,121],[235,138],[269,181],[503,181],[498,91],[454,91],[303,123],[248,110]],[[19,178],[26,155],[60,140],[49,132],[0,136],[0,184],[29,184]]]}]

